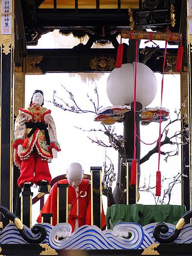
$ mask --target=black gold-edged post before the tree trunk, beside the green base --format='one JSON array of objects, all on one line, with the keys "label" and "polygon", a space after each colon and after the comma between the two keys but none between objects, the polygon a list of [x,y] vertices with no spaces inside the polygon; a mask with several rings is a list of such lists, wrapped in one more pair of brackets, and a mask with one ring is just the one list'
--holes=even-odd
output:
[{"label": "black gold-edged post before the tree trunk, beside the green base", "polygon": [[137,182],[136,182],[136,186],[131,186],[131,163],[132,163],[132,160],[133,159],[126,159],[127,204],[137,204]]}]

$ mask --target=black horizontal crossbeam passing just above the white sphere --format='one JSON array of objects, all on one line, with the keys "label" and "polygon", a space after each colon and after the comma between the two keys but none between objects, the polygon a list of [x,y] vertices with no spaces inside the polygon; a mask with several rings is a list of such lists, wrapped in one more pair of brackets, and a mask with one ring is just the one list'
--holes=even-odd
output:
[{"label": "black horizontal crossbeam passing just above the white sphere", "polygon": [[[157,60],[158,55],[162,55],[164,49],[159,49],[156,55],[145,63],[154,72],[162,73],[163,58]],[[169,56],[177,56],[177,49],[167,49]],[[117,49],[87,49],[82,47],[80,49],[28,49],[27,57],[42,56],[40,63],[35,64],[35,67],[40,67],[42,73],[68,73],[68,72],[111,72],[113,68],[110,66],[105,70],[92,69],[90,61],[94,58],[98,60],[100,57],[111,57],[116,61]],[[143,54],[140,53],[140,60]],[[126,50],[123,52],[123,63],[127,63]],[[93,67],[93,65],[92,65]],[[107,67],[107,66],[106,66]],[[27,72],[27,69],[26,69]]]}]

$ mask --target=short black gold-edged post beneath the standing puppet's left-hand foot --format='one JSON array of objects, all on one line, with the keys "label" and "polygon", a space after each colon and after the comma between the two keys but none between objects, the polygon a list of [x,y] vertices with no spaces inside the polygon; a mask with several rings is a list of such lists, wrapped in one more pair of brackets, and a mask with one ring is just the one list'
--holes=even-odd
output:
[{"label": "short black gold-edged post beneath the standing puppet's left-hand foot", "polygon": [[32,226],[32,192],[22,191],[20,193],[21,222],[27,227]]}]

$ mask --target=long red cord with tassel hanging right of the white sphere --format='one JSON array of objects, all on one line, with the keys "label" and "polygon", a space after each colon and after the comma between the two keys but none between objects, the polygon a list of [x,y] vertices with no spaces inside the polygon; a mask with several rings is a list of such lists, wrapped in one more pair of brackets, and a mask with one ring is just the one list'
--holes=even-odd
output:
[{"label": "long red cord with tassel hanging right of the white sphere", "polygon": [[162,114],[162,99],[163,99],[163,79],[164,79],[164,71],[165,71],[165,60],[166,60],[166,51],[167,51],[167,41],[165,45],[165,53],[163,60],[163,77],[161,81],[161,108],[160,108],[160,123],[159,123],[159,139],[158,139],[158,171],[156,172],[156,193],[155,196],[161,195],[161,172],[160,172],[160,155],[161,155],[161,114]]}]

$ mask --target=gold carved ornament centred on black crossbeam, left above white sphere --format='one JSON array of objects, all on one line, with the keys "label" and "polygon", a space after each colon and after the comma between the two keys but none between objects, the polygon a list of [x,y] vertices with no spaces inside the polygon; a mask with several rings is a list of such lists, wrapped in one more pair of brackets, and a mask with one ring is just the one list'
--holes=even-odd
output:
[{"label": "gold carved ornament centred on black crossbeam, left above white sphere", "polygon": [[95,57],[90,60],[92,70],[113,70],[116,67],[116,61],[113,57]]}]

